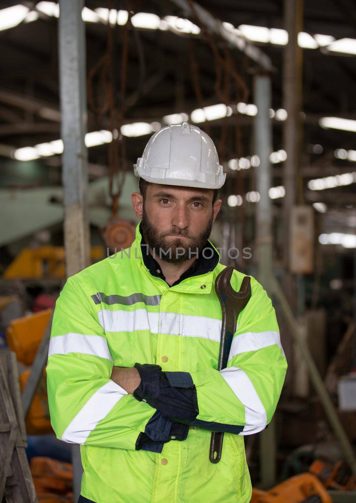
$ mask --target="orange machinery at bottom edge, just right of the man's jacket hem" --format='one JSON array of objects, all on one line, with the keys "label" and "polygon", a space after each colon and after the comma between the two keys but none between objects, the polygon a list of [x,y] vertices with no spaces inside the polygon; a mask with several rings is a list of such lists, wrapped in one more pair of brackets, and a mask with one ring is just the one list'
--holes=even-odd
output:
[{"label": "orange machinery at bottom edge, just right of the man's jacket hem", "polygon": [[268,491],[252,489],[250,503],[332,503],[332,499],[315,475],[302,473]]}]

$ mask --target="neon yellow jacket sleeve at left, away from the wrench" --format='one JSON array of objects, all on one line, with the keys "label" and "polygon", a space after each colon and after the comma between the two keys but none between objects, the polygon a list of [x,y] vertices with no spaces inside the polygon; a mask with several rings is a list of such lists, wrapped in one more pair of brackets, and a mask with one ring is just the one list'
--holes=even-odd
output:
[{"label": "neon yellow jacket sleeve at left, away from the wrench", "polygon": [[[56,302],[46,368],[51,424],[64,442],[135,450],[141,433],[160,439],[156,410],[110,379],[113,359],[90,300],[74,276]],[[164,440],[171,424],[163,418],[160,426]]]}]

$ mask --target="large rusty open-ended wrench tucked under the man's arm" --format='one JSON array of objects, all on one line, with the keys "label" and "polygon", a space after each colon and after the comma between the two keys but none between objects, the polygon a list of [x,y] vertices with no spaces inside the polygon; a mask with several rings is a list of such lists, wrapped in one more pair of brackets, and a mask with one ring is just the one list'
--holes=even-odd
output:
[{"label": "large rusty open-ended wrench tucked under the man's arm", "polygon": [[[221,338],[218,370],[225,369],[229,358],[233,335],[236,331],[237,318],[251,297],[251,283],[249,276],[242,280],[240,290],[235,292],[230,279],[233,267],[226,267],[215,281],[215,292],[218,296],[222,311]],[[218,463],[221,458],[224,433],[212,432],[209,459]]]}]

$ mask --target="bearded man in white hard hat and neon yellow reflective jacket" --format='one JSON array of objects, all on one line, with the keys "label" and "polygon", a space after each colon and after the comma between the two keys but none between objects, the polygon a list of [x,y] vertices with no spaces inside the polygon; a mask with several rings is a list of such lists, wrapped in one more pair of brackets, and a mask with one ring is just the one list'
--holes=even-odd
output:
[{"label": "bearded man in white hard hat and neon yellow reflective jacket", "polygon": [[[218,371],[225,266],[208,240],[225,175],[214,143],[166,126],[135,164],[141,219],[131,248],[69,278],[47,366],[59,439],[80,444],[79,501],[247,503],[243,436],[263,430],[287,368],[275,311],[251,278],[226,369]],[[237,291],[243,274],[234,271]],[[211,463],[211,432],[225,432]]]}]

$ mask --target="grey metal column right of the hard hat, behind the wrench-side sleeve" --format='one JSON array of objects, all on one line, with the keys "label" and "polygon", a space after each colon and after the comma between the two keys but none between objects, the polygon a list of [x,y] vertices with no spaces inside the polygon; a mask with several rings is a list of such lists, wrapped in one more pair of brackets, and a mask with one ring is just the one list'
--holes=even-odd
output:
[{"label": "grey metal column right of the hard hat, behind the wrench-side sleeve", "polygon": [[[254,103],[257,115],[254,119],[254,151],[259,157],[256,170],[260,200],[256,205],[255,247],[258,261],[258,281],[269,290],[273,274],[272,264],[272,201],[268,194],[271,183],[270,154],[272,152],[271,77],[266,73],[254,76]],[[259,435],[260,487],[268,489],[276,482],[276,439],[275,423]]]}]

